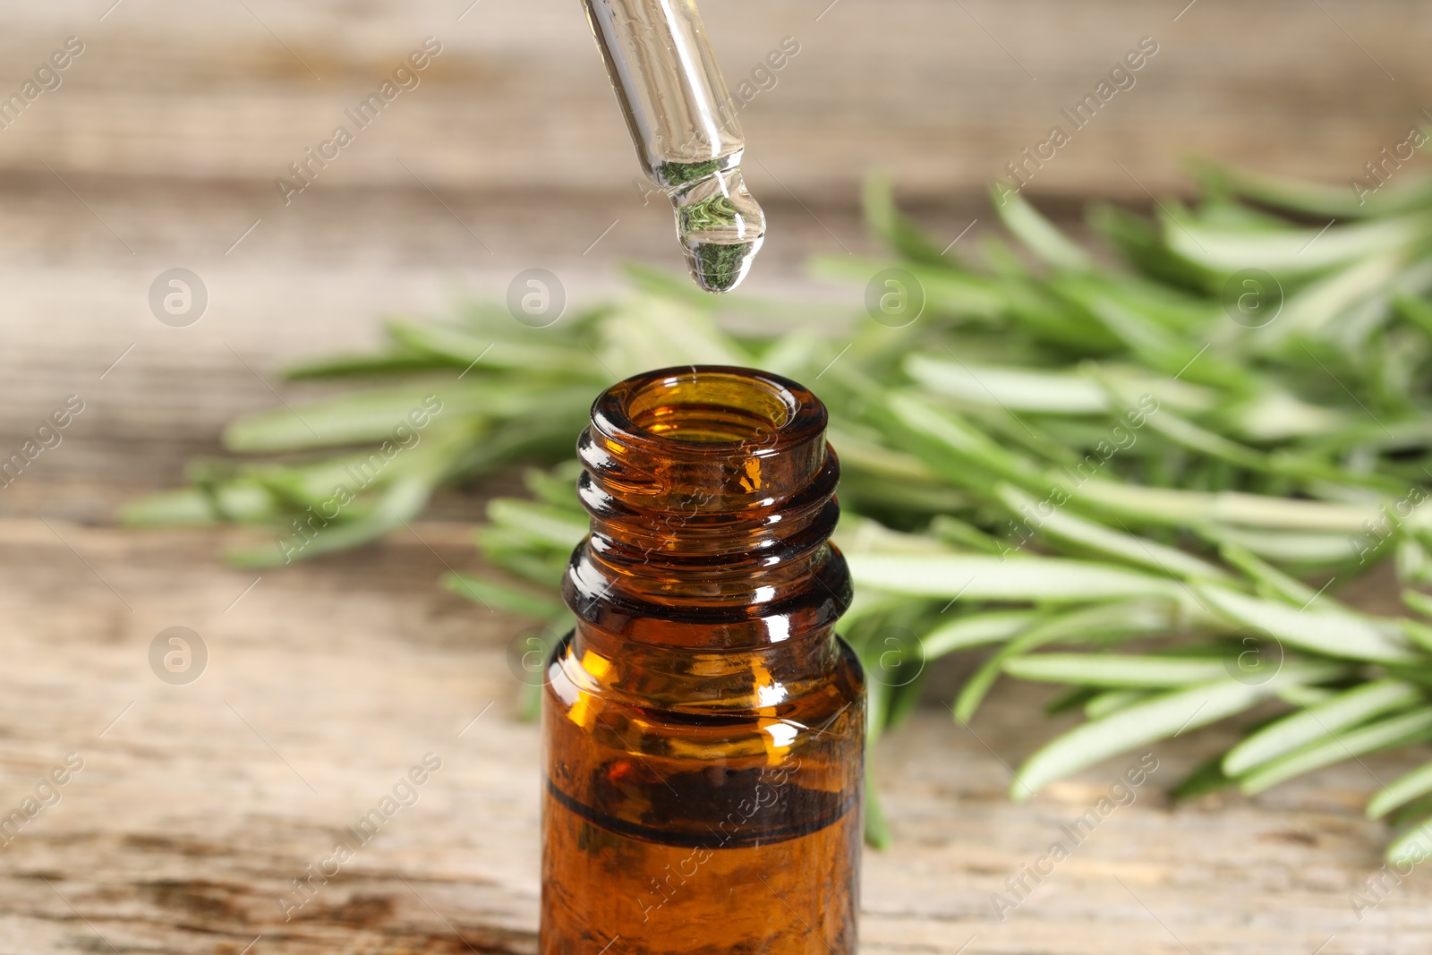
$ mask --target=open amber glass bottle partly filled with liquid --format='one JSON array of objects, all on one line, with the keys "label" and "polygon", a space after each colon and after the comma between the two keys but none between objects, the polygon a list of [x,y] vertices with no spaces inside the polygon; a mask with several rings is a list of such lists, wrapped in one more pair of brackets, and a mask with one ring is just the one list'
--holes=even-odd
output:
[{"label": "open amber glass bottle partly filled with liquid", "polygon": [[591,408],[543,706],[543,955],[855,952],[865,686],[825,407],[759,371]]}]

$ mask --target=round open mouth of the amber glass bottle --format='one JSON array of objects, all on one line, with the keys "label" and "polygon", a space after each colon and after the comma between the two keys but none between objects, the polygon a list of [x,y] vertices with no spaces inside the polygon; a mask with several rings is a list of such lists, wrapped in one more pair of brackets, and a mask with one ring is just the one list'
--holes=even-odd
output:
[{"label": "round open mouth of the amber glass bottle", "polygon": [[705,368],[639,382],[624,408],[637,432],[705,445],[772,444],[799,409],[799,398],[773,378]]}]

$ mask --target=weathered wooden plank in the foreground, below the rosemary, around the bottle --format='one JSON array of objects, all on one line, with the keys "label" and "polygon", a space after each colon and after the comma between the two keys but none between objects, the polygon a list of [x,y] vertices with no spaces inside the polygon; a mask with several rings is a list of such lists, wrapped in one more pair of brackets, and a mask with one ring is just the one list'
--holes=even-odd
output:
[{"label": "weathered wooden plank in the foreground, below the rosemary, around the bottle", "polygon": [[[505,664],[520,621],[434,587],[444,564],[473,564],[465,528],[414,530],[246,590],[255,574],[219,564],[211,534],[0,521],[0,808],[67,753],[84,760],[59,805],[0,849],[0,954],[238,955],[255,939],[255,955],[534,951],[537,733],[514,719]],[[189,686],[149,670],[150,641],[176,624],[209,649]],[[1070,842],[1071,858],[1001,921],[992,895],[1010,898],[1005,879],[1068,842],[1061,826],[1137,763],[1114,759],[1008,803],[1007,766],[1048,732],[1038,696],[1005,686],[972,729],[934,703],[881,745],[895,846],[866,856],[862,951],[1310,955],[1333,938],[1325,952],[1385,955],[1432,944],[1422,873],[1360,922],[1349,902],[1385,839],[1362,800],[1405,757],[1256,800],[1170,806],[1163,790],[1227,743],[1217,732],[1160,746],[1136,800]],[[281,905],[428,752],[442,767],[418,802],[306,905]]]}]

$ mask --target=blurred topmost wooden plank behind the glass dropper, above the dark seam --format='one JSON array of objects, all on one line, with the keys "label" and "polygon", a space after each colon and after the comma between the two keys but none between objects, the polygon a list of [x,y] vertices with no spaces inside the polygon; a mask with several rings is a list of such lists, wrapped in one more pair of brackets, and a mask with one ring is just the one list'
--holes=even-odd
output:
[{"label": "blurred topmost wooden plank behind the glass dropper, above the dark seam", "polygon": [[[125,0],[99,20],[110,3],[6,13],[0,89],[66,36],[86,52],[0,133],[0,170],[272,183],[434,36],[444,52],[422,83],[315,189],[417,175],[536,199],[553,185],[626,192],[636,172],[577,0]],[[1342,182],[1432,109],[1432,9],[1415,0],[726,0],[705,13],[732,84],[783,37],[800,43],[743,110],[748,172],[763,195],[816,205],[849,203],[876,165],[912,192],[981,192],[1146,36],[1157,56],[1040,173],[1041,192],[1141,198],[1179,186],[1189,150]]]}]

